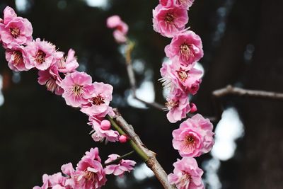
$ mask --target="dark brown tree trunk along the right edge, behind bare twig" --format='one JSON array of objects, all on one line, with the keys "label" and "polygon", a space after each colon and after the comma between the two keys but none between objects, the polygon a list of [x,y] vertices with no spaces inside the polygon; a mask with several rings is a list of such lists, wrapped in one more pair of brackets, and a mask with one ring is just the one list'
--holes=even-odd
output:
[{"label": "dark brown tree trunk along the right edge, behind bare twig", "polygon": [[[247,88],[283,92],[283,1],[260,1],[255,57],[247,71]],[[246,126],[241,188],[283,187],[282,105],[247,100],[241,108]]]}]

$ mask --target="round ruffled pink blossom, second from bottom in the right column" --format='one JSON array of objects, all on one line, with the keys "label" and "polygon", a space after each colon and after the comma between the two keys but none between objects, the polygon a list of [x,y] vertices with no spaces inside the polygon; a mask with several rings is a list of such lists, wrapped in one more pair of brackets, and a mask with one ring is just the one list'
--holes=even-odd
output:
[{"label": "round ruffled pink blossom, second from bottom in the right column", "polygon": [[214,144],[212,129],[209,119],[204,119],[200,114],[194,115],[173,131],[173,147],[180,156],[196,157],[207,153]]}]

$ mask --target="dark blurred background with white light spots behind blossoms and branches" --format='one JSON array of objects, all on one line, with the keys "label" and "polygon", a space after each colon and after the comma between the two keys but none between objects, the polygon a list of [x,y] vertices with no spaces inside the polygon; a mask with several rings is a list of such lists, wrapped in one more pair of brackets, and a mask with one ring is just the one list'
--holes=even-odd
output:
[{"label": "dark blurred background with white light spots behind blossoms and branches", "polygon": [[[175,125],[166,113],[146,108],[129,90],[124,48],[105,26],[108,16],[118,14],[129,24],[129,38],[136,43],[133,67],[137,96],[164,103],[157,81],[170,42],[155,33],[151,11],[155,1],[133,0],[1,0],[33,24],[33,37],[53,42],[59,50],[76,50],[80,71],[95,81],[114,86],[112,106],[120,108],[147,147],[157,153],[167,173],[173,171],[178,151],[172,147]],[[192,97],[198,112],[216,114],[212,91],[227,84],[243,88],[283,92],[283,1],[200,1],[189,11],[191,27],[201,36],[204,69],[200,91]],[[35,71],[8,69],[0,49],[0,188],[32,188],[42,185],[42,175],[74,166],[91,147],[100,156],[125,154],[127,144],[99,144],[88,134],[88,118],[68,107],[64,99],[37,84]],[[224,112],[214,122],[216,144],[210,154],[197,158],[204,169],[207,188],[283,188],[283,101],[227,96]],[[139,162],[124,178],[108,177],[103,188],[161,188],[153,173]]]}]

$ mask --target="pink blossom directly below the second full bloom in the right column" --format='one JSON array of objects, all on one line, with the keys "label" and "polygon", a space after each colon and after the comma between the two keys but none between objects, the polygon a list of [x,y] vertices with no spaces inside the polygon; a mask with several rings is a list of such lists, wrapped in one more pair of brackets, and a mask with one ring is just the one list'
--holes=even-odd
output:
[{"label": "pink blossom directly below the second full bloom in the right column", "polygon": [[202,71],[195,68],[187,68],[173,60],[173,63],[164,62],[160,69],[163,86],[169,88],[178,88],[184,93],[197,93],[200,86]]}]

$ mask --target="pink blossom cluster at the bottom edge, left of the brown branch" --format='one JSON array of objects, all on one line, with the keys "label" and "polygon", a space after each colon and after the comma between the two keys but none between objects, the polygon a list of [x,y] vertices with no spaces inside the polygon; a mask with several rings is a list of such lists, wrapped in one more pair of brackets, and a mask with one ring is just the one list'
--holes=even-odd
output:
[{"label": "pink blossom cluster at the bottom edge, left of the brown branch", "polygon": [[[109,159],[105,161],[105,165],[120,158],[117,154],[109,155]],[[109,164],[103,167],[98,148],[92,148],[86,151],[85,156],[76,165],[74,169],[71,163],[64,164],[61,167],[62,173],[54,173],[49,176],[42,176],[42,186],[35,186],[33,189],[95,189],[105,185],[106,175],[113,174],[115,176],[123,176],[127,171],[132,171],[136,162],[132,160],[120,159],[117,164]]]}]

